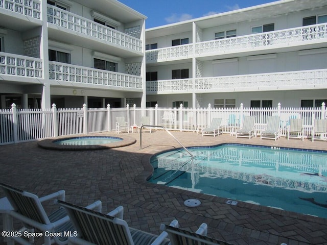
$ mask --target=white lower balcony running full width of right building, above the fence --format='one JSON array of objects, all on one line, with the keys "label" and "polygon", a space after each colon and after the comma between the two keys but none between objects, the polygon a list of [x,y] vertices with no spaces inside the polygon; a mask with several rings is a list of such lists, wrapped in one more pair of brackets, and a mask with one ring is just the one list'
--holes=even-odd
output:
[{"label": "white lower balcony running full width of right building, above the fence", "polygon": [[326,89],[327,69],[147,82],[147,94]]}]

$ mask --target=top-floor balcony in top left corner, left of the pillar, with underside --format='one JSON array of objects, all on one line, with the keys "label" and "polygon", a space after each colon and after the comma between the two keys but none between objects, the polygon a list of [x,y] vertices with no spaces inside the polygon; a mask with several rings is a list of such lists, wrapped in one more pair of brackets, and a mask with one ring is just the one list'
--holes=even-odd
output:
[{"label": "top-floor balcony in top left corner, left of the pillar, with underside", "polygon": [[21,31],[42,25],[39,0],[0,0],[0,13],[4,28]]}]

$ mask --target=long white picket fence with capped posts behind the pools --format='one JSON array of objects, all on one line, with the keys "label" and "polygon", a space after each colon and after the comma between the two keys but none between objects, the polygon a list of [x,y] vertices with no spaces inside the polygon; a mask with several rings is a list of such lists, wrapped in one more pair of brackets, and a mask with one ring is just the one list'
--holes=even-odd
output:
[{"label": "long white picket fence with capped posts behind the pools", "polygon": [[327,119],[325,104],[319,108],[63,108],[0,110],[0,145],[32,141],[64,135],[88,134],[115,130],[115,118],[125,117],[129,126],[141,125],[142,116],[151,118],[151,125],[168,130],[196,131],[210,124],[212,118],[221,117],[223,132],[233,133],[242,127],[246,115],[255,116],[258,132],[264,130],[269,116],[281,118],[282,136],[286,136],[291,118],[302,118],[305,137],[311,136],[314,119]]}]

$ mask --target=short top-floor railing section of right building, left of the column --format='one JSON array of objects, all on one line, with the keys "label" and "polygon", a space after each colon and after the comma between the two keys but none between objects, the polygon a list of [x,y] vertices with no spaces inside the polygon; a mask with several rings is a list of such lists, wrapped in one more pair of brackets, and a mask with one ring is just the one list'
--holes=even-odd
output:
[{"label": "short top-floor railing section of right building, left of the column", "polygon": [[192,58],[193,44],[184,44],[172,47],[158,48],[146,51],[146,61],[166,61],[169,59]]}]

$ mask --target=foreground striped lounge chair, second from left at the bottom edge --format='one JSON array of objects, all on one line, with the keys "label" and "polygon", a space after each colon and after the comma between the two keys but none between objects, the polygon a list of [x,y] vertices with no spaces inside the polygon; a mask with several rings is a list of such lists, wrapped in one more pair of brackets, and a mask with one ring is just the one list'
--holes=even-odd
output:
[{"label": "foreground striped lounge chair, second from left at the bottom edge", "polygon": [[[159,245],[169,243],[166,232],[157,236],[128,227],[123,219],[124,208],[122,206],[104,214],[63,201],[58,201],[58,203],[67,210],[77,231],[76,237],[68,238],[69,244]],[[176,226],[176,222],[172,222],[171,225]]]}]

